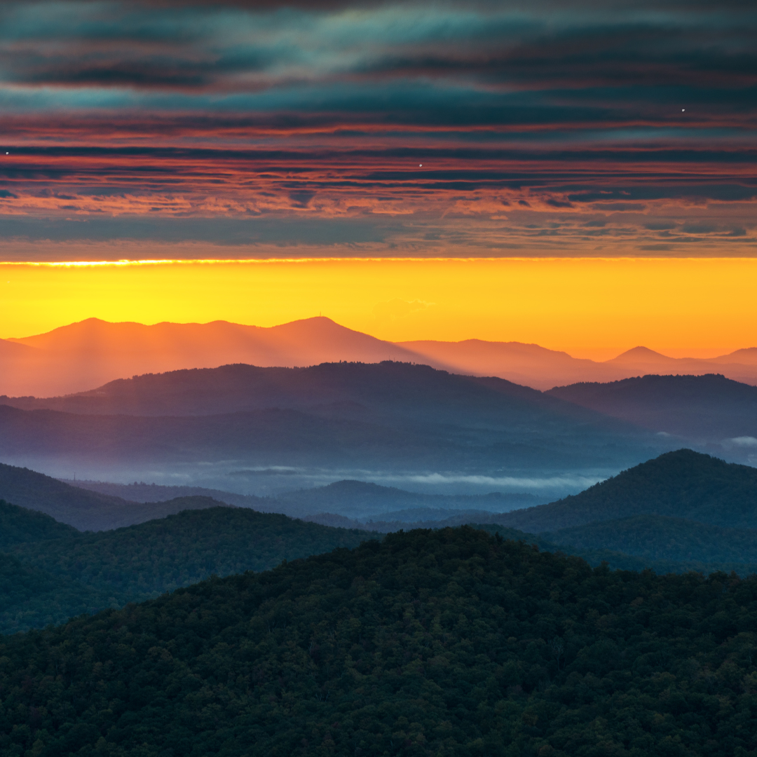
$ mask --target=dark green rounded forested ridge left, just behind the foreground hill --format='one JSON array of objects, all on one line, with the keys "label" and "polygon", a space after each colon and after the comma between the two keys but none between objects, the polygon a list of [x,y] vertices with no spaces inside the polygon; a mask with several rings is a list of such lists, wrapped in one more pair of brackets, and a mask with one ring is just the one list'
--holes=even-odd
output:
[{"label": "dark green rounded forested ridge left, just behind the foreground hill", "polygon": [[157,597],[210,575],[269,570],[282,560],[357,547],[369,534],[251,509],[185,510],[99,534],[18,547],[26,564],[108,590],[121,603]]}]

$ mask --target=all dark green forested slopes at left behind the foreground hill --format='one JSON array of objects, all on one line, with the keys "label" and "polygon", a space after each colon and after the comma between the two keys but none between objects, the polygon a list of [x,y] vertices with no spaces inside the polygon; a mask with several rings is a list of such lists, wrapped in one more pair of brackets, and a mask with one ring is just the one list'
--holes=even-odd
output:
[{"label": "all dark green forested slopes at left behind the foreground hill", "polygon": [[171,505],[182,512],[82,534],[0,500],[0,633],[157,597],[210,575],[261,571],[282,560],[354,547],[372,535],[219,506],[207,497]]}]

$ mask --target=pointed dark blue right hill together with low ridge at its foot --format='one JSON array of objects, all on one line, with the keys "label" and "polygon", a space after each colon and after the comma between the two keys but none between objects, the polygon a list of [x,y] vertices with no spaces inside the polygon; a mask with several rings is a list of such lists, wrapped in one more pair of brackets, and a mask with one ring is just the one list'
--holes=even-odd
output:
[{"label": "pointed dark blue right hill together with low ridge at its foot", "polygon": [[[570,551],[612,550],[679,568],[755,571],[757,469],[678,450],[575,497],[497,516]],[[617,560],[608,558],[618,565]],[[695,565],[699,562],[701,565]],[[734,565],[740,563],[740,565]],[[675,570],[667,562],[668,570]]]}]

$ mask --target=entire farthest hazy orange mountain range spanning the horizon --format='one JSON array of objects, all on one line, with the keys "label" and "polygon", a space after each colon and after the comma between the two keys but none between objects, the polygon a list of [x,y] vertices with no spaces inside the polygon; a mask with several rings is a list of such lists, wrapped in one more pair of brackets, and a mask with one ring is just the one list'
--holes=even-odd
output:
[{"label": "entire farthest hazy orange mountain range spanning the horizon", "polygon": [[721,373],[757,383],[757,347],[711,359],[672,358],[634,347],[596,362],[537,344],[468,339],[393,343],[339,326],[326,317],[263,328],[210,323],[110,323],[90,318],[45,334],[0,340],[0,393],[52,397],[88,391],[117,378],[229,363],[310,366],[382,360],[424,363],[470,375],[492,375],[548,389],[610,382],[648,373]]}]

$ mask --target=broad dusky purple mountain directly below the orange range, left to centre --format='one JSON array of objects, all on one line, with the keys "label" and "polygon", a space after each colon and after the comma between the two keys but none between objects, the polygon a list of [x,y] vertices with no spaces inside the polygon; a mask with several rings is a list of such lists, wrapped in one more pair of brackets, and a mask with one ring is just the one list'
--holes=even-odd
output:
[{"label": "broad dusky purple mountain directly below the orange range, left to centre", "polygon": [[394,362],[323,363],[301,369],[229,365],[122,378],[67,397],[4,402],[22,410],[87,415],[187,416],[275,407],[363,421],[397,413],[434,422],[473,417],[492,422],[506,416],[509,425],[534,413],[581,422],[601,422],[602,417],[505,379]]}]

